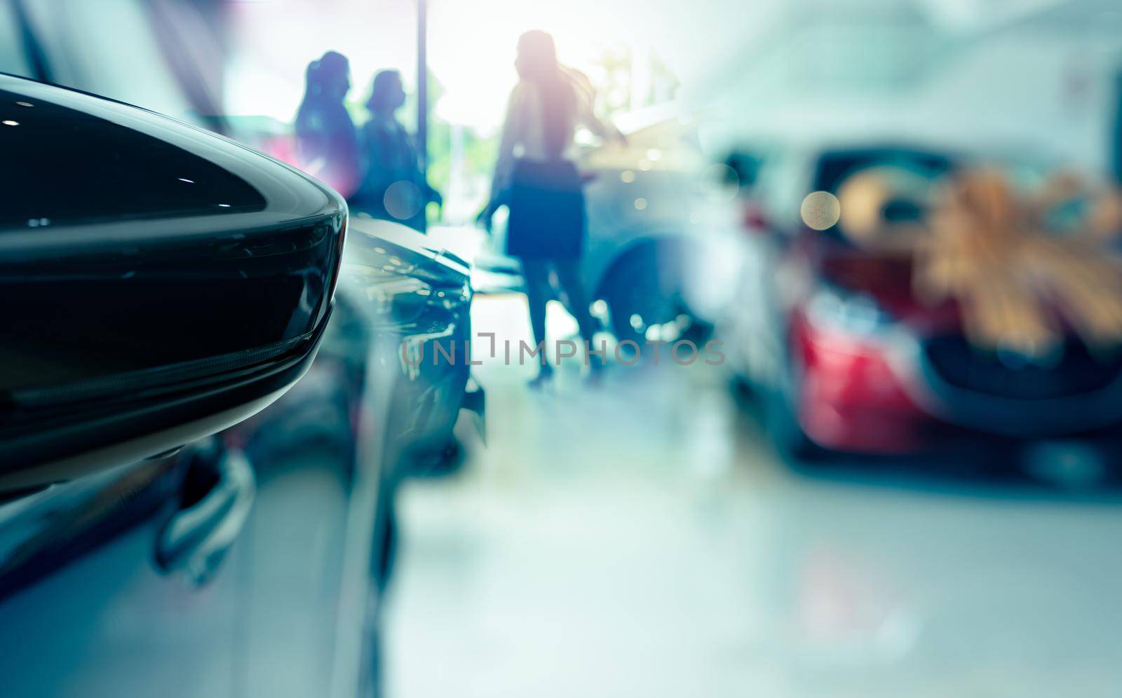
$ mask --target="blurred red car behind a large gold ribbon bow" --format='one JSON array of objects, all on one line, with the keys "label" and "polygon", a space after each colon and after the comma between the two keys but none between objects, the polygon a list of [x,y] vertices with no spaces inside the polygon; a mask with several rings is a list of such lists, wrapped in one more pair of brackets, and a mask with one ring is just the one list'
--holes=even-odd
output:
[{"label": "blurred red car behind a large gold ribbon bow", "polygon": [[[839,223],[800,217],[812,192],[893,167],[935,182],[964,160],[891,145],[739,155],[747,269],[728,342],[764,397],[769,429],[793,457],[902,454],[983,442],[1012,453],[1032,440],[1110,437],[1122,421],[1122,355],[1068,336],[1048,361],[973,347],[955,303],[912,295],[907,256],[848,241]],[[744,180],[747,181],[744,181]],[[922,212],[892,202],[886,217]],[[1013,450],[1010,450],[1013,449]]]}]

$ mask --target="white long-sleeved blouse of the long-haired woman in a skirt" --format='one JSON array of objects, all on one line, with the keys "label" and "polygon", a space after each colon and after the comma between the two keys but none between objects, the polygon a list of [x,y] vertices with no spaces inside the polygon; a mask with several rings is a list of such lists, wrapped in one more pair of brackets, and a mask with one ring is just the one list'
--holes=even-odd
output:
[{"label": "white long-sleeved blouse of the long-haired woman in a skirt", "polygon": [[[577,95],[577,109],[564,123],[567,146],[562,157],[572,156],[573,136],[578,126],[583,126],[600,138],[618,132],[592,112],[591,86],[583,84],[585,81],[579,76],[567,75],[567,77]],[[498,159],[495,163],[495,178],[491,181],[493,198],[509,185],[516,159],[549,159],[542,110],[543,101],[537,84],[527,80],[519,81],[511,91],[511,100],[506,107],[506,120],[503,123],[503,137],[499,141]]]}]

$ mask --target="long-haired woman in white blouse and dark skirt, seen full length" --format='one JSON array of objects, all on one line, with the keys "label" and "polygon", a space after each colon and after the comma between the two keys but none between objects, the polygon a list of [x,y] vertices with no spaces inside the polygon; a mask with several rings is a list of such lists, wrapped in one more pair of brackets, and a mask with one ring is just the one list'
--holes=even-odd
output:
[{"label": "long-haired woman in white blouse and dark skirt, seen full length", "polygon": [[[518,83],[507,103],[490,200],[479,221],[489,230],[495,211],[502,205],[509,210],[507,254],[522,263],[534,341],[545,341],[545,306],[559,297],[591,345],[596,328],[580,282],[583,180],[570,151],[578,126],[601,138],[623,140],[623,135],[595,116],[591,83],[558,62],[553,37],[545,31],[519,37],[515,67]],[[600,360],[589,357],[588,362],[598,377]],[[531,386],[552,375],[546,361]]]}]

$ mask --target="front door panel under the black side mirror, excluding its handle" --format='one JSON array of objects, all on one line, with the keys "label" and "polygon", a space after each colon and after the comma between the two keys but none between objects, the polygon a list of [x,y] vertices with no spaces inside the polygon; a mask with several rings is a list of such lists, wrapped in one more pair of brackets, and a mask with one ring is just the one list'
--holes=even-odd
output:
[{"label": "front door panel under the black side mirror, excluding its handle", "polygon": [[6,697],[233,695],[237,575],[196,587],[155,563],[185,466],[145,461],[8,504]]}]

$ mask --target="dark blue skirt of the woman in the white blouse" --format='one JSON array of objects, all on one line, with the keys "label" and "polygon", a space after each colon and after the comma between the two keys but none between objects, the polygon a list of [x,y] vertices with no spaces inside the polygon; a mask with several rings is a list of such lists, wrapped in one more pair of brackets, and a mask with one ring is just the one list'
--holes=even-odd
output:
[{"label": "dark blue skirt of the woman in the white blouse", "polygon": [[512,257],[576,259],[585,245],[585,194],[569,160],[519,159],[511,182],[506,251]]}]

